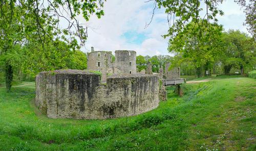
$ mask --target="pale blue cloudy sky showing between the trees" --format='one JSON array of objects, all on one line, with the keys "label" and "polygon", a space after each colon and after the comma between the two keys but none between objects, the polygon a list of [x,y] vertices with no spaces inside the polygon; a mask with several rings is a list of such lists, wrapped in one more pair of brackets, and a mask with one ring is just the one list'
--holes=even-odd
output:
[{"label": "pale blue cloudy sky showing between the trees", "polygon": [[[90,52],[91,46],[95,51],[130,50],[137,55],[171,55],[167,51],[168,39],[162,35],[168,31],[167,15],[164,9],[157,9],[150,26],[145,28],[151,20],[154,5],[145,0],[107,0],[104,4],[104,16],[98,19],[92,16],[88,22],[82,17],[79,22],[88,26],[88,40],[81,48],[83,52]],[[234,1],[224,0],[219,8],[224,12],[218,16],[219,23],[225,30],[238,29],[246,32],[243,26],[245,14]]]}]

